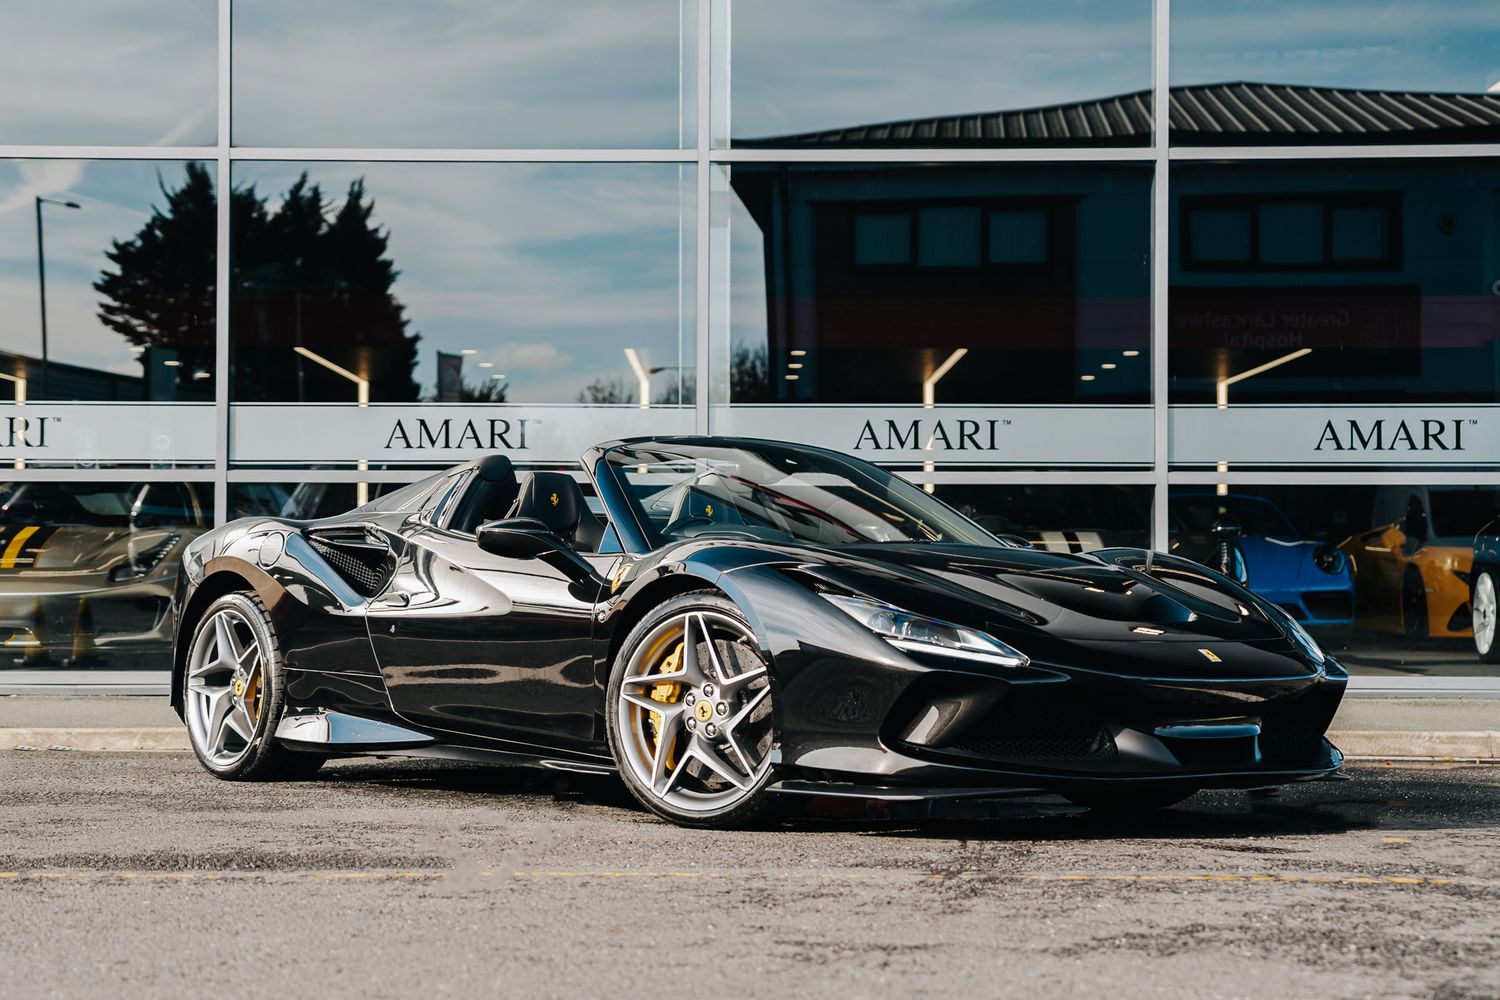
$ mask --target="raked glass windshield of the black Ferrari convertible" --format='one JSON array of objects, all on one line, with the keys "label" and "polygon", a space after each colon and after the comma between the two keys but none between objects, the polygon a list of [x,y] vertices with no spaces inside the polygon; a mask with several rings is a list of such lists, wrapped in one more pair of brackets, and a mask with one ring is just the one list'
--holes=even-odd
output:
[{"label": "raked glass windshield of the black Ferrari convertible", "polygon": [[604,457],[652,547],[698,535],[1000,544],[910,483],[832,451],[650,442]]}]

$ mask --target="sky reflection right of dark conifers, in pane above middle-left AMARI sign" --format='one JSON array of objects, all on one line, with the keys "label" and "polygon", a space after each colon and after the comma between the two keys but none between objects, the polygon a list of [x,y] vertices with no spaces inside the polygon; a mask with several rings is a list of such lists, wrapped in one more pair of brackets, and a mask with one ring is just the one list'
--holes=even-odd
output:
[{"label": "sky reflection right of dark conifers, in pane above middle-left AMARI sign", "polygon": [[[472,349],[465,382],[502,373],[512,402],[573,402],[596,378],[633,391],[626,348],[648,367],[690,370],[690,166],[238,163],[234,183],[274,210],[304,169],[336,202],[364,178],[372,222],[390,232],[393,292],[422,334],[424,396],[438,351]],[[656,375],[654,393],[675,378]]]}]

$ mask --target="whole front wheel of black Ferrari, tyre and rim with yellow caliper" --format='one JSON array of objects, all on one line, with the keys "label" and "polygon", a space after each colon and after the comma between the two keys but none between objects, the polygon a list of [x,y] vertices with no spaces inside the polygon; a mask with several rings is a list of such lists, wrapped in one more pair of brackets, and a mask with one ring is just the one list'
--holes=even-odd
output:
[{"label": "whole front wheel of black Ferrari, tyre and rim with yellow caliper", "polygon": [[657,816],[729,828],[774,805],[771,672],[732,601],[686,594],[646,615],[615,658],[604,715],[626,787]]}]

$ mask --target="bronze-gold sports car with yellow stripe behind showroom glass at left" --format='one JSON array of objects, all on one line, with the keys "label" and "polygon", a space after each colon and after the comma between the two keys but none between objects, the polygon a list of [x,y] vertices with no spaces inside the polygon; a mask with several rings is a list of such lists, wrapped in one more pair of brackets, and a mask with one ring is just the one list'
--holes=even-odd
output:
[{"label": "bronze-gold sports car with yellow stripe behind showroom glass at left", "polygon": [[184,483],[0,484],[0,667],[162,666],[178,553],[212,517]]}]

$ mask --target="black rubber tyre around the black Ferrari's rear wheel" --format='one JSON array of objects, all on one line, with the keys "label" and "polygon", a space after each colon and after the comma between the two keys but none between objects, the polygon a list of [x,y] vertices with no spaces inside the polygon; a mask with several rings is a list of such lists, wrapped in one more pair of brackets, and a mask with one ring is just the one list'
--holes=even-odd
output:
[{"label": "black rubber tyre around the black Ferrari's rear wheel", "polygon": [[[243,622],[248,631],[243,639],[255,642],[260,657],[258,711],[250,727],[250,738],[243,741],[243,748],[234,751],[232,760],[225,760],[224,754],[216,754],[214,748],[207,745],[210,739],[207,715],[195,715],[206,711],[206,696],[189,690],[194,682],[194,666],[206,657],[206,643],[216,642],[218,621],[225,615],[236,619],[237,624]],[[213,777],[225,781],[297,781],[312,777],[327,760],[322,754],[288,750],[273,736],[286,705],[285,664],[266,604],[254,592],[225,594],[210,604],[202,618],[198,619],[192,643],[188,646],[183,688],[183,714],[188,718],[189,742],[198,763]]]}]

